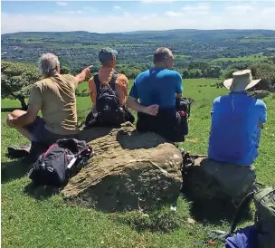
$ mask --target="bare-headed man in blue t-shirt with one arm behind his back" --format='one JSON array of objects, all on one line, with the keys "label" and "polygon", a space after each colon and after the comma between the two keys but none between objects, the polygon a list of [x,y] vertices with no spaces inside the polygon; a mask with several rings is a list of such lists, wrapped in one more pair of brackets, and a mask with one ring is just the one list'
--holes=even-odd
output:
[{"label": "bare-headed man in blue t-shirt with one arm behind his back", "polygon": [[182,77],[171,70],[173,66],[173,53],[158,48],[154,67],[137,75],[127,100],[128,107],[138,112],[137,130],[153,131],[170,140],[176,125],[175,100],[183,92]]}]

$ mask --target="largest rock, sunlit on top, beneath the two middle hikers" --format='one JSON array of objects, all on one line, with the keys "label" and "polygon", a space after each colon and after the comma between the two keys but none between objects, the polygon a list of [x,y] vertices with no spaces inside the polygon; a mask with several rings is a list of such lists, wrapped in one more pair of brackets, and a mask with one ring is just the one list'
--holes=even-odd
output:
[{"label": "largest rock, sunlit on top, beneath the two middle hikers", "polygon": [[87,129],[80,138],[93,139],[95,154],[63,189],[66,200],[103,211],[152,209],[176,200],[183,159],[164,138],[139,133],[129,122]]}]

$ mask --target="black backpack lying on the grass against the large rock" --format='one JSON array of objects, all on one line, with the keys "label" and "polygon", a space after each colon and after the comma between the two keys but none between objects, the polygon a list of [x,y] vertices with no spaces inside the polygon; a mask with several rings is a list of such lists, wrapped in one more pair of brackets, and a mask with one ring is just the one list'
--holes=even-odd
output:
[{"label": "black backpack lying on the grass against the large rock", "polygon": [[38,157],[28,173],[29,178],[35,186],[63,186],[91,155],[92,149],[84,140],[59,139]]}]

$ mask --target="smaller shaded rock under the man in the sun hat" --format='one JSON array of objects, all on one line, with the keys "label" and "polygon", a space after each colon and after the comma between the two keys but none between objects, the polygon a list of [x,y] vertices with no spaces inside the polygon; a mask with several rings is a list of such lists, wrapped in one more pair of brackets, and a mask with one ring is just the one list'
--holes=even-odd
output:
[{"label": "smaller shaded rock under the man in the sun hat", "polygon": [[197,156],[194,165],[187,164],[184,175],[183,190],[194,201],[213,200],[233,207],[240,205],[242,198],[252,191],[256,177],[251,167],[218,162],[206,156]]}]

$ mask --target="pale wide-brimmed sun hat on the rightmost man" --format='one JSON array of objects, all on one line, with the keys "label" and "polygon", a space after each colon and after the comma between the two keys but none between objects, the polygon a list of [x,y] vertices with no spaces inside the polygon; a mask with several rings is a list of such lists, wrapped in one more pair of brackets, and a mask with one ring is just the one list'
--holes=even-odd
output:
[{"label": "pale wide-brimmed sun hat on the rightmost man", "polygon": [[255,86],[261,79],[253,80],[251,70],[233,72],[233,78],[223,81],[223,85],[230,91],[245,91]]}]

